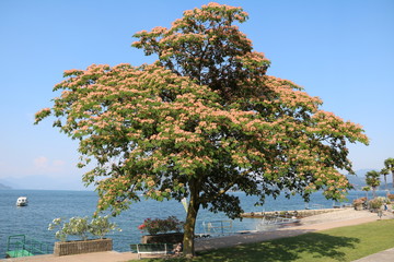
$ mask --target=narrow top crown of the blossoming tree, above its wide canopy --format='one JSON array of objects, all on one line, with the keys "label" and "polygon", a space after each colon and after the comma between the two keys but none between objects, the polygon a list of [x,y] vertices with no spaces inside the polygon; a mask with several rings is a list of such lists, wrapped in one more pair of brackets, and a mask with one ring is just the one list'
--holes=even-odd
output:
[{"label": "narrow top crown of the blossoming tree, above its wide canopy", "polygon": [[228,102],[234,94],[243,97],[251,87],[260,86],[253,82],[258,82],[269,66],[269,60],[253,51],[252,41],[234,25],[246,19],[241,8],[210,3],[185,11],[169,29],[137,33],[135,37],[140,39],[132,46],[143,48],[148,56],[157,53],[159,64],[220,91]]}]

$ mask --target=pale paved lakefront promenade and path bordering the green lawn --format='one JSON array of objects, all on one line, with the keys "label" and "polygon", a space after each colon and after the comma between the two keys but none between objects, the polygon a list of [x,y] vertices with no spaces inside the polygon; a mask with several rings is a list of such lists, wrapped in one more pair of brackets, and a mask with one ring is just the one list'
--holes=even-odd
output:
[{"label": "pale paved lakefront promenade and path bordering the green lawn", "polygon": [[[393,219],[392,213],[385,213],[382,219]],[[335,227],[352,226],[379,219],[376,214],[367,211],[354,211],[345,209],[338,212],[311,216],[302,219],[300,226],[280,228],[265,233],[251,233],[232,235],[220,238],[207,238],[196,240],[196,250],[220,249],[242,243],[259,242],[282,237],[292,237],[311,231],[320,231]],[[144,257],[142,257],[144,258]],[[137,260],[138,255],[131,252],[97,252],[74,255],[55,257],[53,254],[35,255],[19,259],[5,259],[0,262],[125,262]],[[394,261],[394,248],[362,258],[357,262],[392,262]],[[355,261],[356,262],[356,261]]]}]

